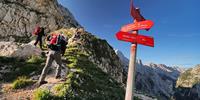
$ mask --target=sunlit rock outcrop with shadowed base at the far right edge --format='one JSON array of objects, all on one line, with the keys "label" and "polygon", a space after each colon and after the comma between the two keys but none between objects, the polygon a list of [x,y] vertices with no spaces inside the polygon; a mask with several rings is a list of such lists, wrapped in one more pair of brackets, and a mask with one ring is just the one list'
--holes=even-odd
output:
[{"label": "sunlit rock outcrop with shadowed base at the far right edge", "polygon": [[200,99],[200,65],[186,70],[176,82],[176,100],[199,100]]}]

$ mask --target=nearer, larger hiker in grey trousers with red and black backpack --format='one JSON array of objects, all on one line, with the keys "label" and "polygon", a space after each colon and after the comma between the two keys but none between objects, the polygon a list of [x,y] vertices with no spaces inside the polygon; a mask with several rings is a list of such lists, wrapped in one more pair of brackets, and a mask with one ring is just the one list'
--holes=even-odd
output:
[{"label": "nearer, larger hiker in grey trousers with red and black backpack", "polygon": [[[62,40],[63,39],[63,40]],[[48,72],[48,68],[52,65],[52,62],[55,60],[56,63],[58,64],[56,68],[56,79],[61,79],[61,68],[62,68],[62,61],[61,61],[61,46],[63,45],[61,41],[66,41],[64,35],[58,34],[58,33],[53,33],[47,37],[48,43],[48,48],[49,48],[49,53],[47,55],[47,60],[45,67],[42,70],[42,74],[37,82],[37,85],[40,86],[42,84],[47,83],[45,80],[46,74]],[[65,43],[66,45],[67,43]],[[68,73],[68,68],[65,66]]]}]

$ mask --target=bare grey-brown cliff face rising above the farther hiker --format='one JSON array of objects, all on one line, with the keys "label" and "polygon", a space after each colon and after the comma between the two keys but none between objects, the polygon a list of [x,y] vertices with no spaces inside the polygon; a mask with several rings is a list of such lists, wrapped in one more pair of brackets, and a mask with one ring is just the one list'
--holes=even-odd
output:
[{"label": "bare grey-brown cliff face rising above the farther hiker", "polygon": [[29,42],[36,25],[45,32],[80,26],[57,0],[0,0],[0,41]]}]

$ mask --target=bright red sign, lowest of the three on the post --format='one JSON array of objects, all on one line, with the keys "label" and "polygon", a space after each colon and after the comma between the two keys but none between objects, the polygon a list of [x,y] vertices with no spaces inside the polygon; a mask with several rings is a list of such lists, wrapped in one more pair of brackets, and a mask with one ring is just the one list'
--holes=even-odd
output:
[{"label": "bright red sign, lowest of the three on the post", "polygon": [[118,40],[121,40],[121,41],[138,43],[138,44],[154,47],[153,37],[144,36],[144,35],[136,35],[136,34],[131,34],[131,33],[122,32],[122,31],[118,32],[116,34],[116,37]]}]

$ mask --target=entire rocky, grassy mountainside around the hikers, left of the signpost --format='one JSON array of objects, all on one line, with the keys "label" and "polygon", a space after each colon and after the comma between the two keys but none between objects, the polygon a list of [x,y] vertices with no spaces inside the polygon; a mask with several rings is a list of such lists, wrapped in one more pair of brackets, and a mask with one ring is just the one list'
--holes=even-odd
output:
[{"label": "entire rocky, grassy mountainside around the hikers, left of the signpost", "polygon": [[[84,31],[78,38],[72,37],[80,25],[57,0],[1,0],[0,13],[0,99],[22,96],[39,100],[123,100],[123,67],[119,57],[106,40],[91,33]],[[45,27],[46,33],[61,29],[56,32],[62,31],[69,38],[63,63],[70,69],[66,81],[48,83],[39,90],[30,87],[29,82],[38,79],[46,57],[32,43],[24,43],[30,42],[37,24]],[[22,88],[21,92],[7,91],[7,82],[13,89]],[[18,95],[23,91],[31,95]]]}]

